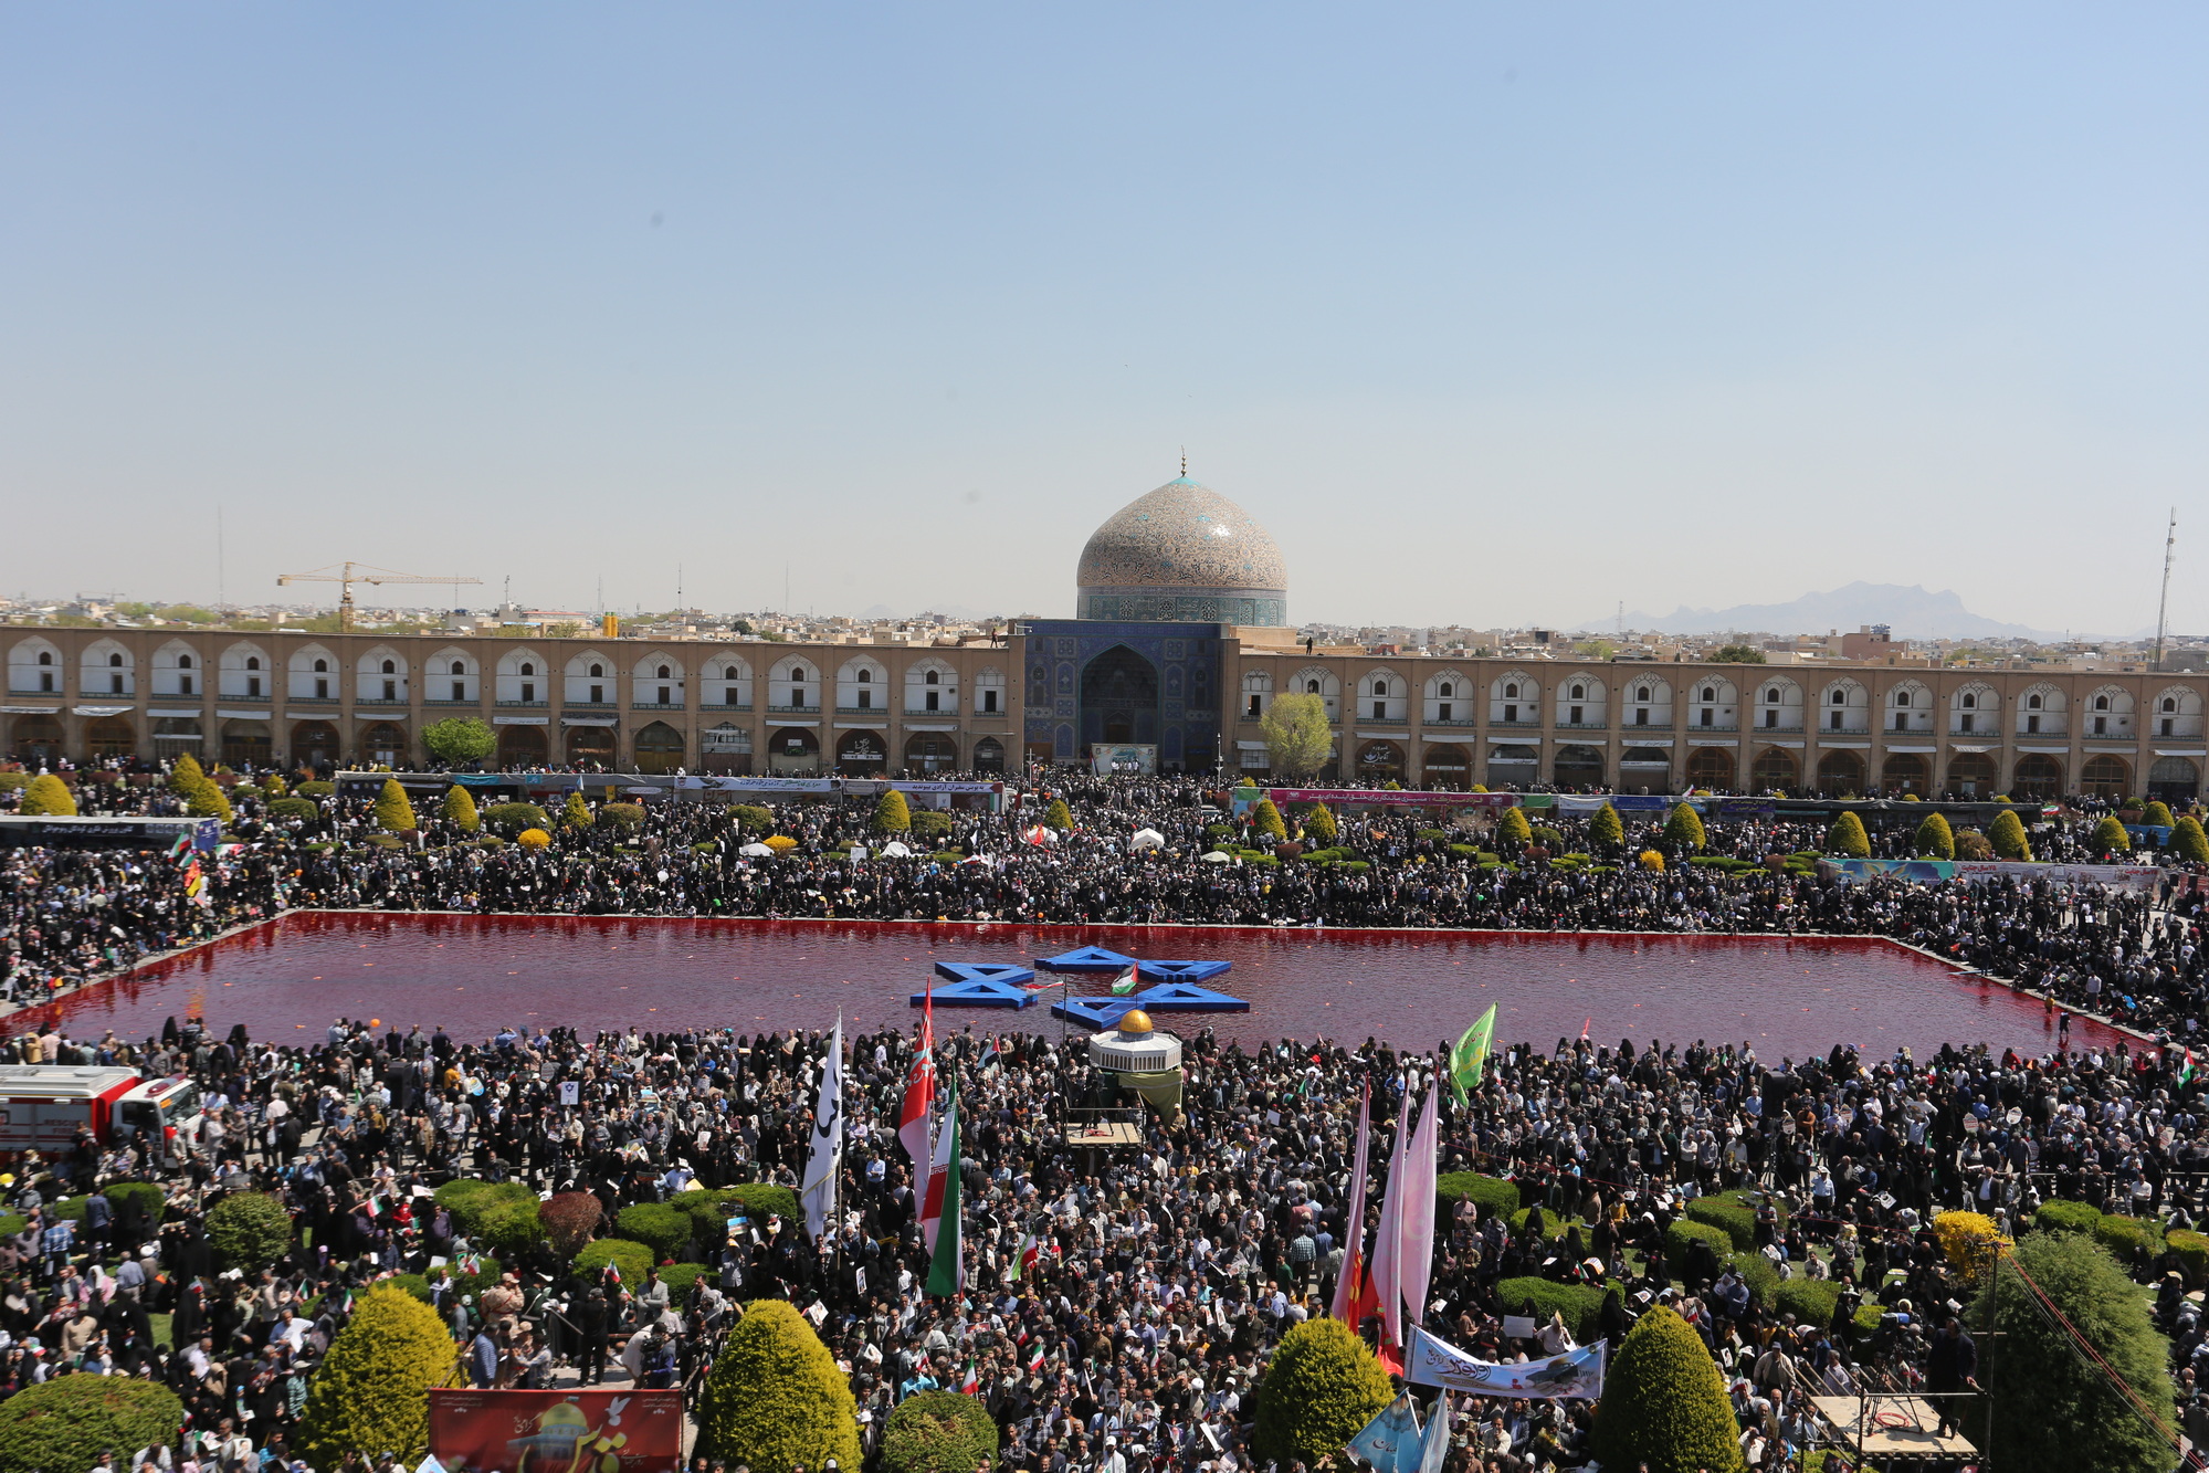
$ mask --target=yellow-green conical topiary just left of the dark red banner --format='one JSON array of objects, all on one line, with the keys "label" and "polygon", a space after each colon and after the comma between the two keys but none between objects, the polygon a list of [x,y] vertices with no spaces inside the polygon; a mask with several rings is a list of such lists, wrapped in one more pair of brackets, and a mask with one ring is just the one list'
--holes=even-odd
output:
[{"label": "yellow-green conical topiary just left of the dark red banner", "polygon": [[378,1283],[353,1305],[307,1391],[300,1451],[323,1469],[362,1449],[411,1466],[429,1451],[429,1391],[457,1385],[459,1349],[437,1312]]}]

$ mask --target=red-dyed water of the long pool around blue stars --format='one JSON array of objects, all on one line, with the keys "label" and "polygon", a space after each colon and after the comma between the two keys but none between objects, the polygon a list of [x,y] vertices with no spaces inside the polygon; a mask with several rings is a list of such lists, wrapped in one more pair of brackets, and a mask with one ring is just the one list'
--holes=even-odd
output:
[{"label": "red-dyed water of the long pool around blue stars", "polygon": [[[1246,928],[932,925],[868,921],[683,921],[621,916],[294,914],[157,963],[0,1029],[60,1016],[73,1036],[159,1031],[203,1011],[254,1038],[318,1038],[340,1014],[384,1027],[444,1025],[488,1038],[501,1025],[585,1031],[636,1025],[828,1027],[906,1025],[908,994],[937,961],[1029,961],[1104,945],[1133,956],[1222,958],[1211,985],[1248,1014],[1162,1020],[1222,1036],[1361,1040],[1431,1047],[1498,1003],[1498,1040],[1549,1049],[1560,1036],[1617,1042],[1750,1040],[1758,1056],[1805,1056],[1836,1042],[1920,1056],[1942,1042],[2021,1053],[2054,1047],[2032,998],[1962,978],[1886,941],[1787,936],[1575,936],[1537,932],[1283,932]],[[1082,992],[1080,981],[1074,992]],[[1087,983],[1100,992],[1100,983]],[[945,1009],[939,1022],[1056,1029],[1038,994],[1025,1011]],[[2079,1020],[2074,1047],[2116,1034]]]}]

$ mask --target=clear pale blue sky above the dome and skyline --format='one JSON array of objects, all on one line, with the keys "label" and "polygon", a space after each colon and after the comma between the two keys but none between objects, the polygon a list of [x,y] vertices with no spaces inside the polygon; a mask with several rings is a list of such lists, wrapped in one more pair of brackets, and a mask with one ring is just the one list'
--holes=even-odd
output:
[{"label": "clear pale blue sky above the dome and skyline", "polygon": [[2209,11],[13,4],[0,587],[2209,629]]}]

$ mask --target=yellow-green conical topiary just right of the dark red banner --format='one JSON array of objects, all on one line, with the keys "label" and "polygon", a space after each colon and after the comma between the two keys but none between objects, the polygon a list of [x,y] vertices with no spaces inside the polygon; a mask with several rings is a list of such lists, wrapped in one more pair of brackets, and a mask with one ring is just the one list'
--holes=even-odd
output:
[{"label": "yellow-green conical topiary just right of the dark red banner", "polygon": [[751,1473],[859,1466],[857,1402],[813,1325],[782,1299],[755,1299],[729,1332],[698,1402],[700,1458]]}]

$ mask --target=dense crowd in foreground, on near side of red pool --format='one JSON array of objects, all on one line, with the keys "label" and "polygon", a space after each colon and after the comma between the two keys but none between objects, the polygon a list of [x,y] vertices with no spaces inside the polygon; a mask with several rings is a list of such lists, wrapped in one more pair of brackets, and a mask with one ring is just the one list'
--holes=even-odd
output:
[{"label": "dense crowd in foreground, on near side of red pool", "polygon": [[[795,1186],[822,1036],[508,1029],[459,1042],[340,1020],[294,1047],[188,1020],[141,1042],[46,1034],[33,1047],[51,1062],[188,1075],[205,1126],[175,1142],[80,1137],[20,1164],[22,1221],[0,1241],[0,1396],[62,1374],[163,1380],[190,1409],[186,1438],[117,1453],[188,1473],[303,1466],[298,1418],[318,1358],[351,1294],[393,1274],[415,1274],[402,1283],[446,1316],[455,1363],[477,1385],[696,1391],[740,1305],[789,1299],[848,1369],[868,1453],[903,1396],[972,1385],[1003,1429],[1007,1473],[1250,1466],[1266,1356],[1328,1312],[1345,1259],[1361,1098],[1372,1157],[1385,1162],[1401,1091],[1436,1084],[1429,1058],[1372,1040],[1253,1053],[1197,1034],[1180,1109],[1149,1113],[1138,1146],[1091,1153],[1067,1144],[1060,1117],[1093,1098],[1080,1045],[939,1040],[968,1122],[968,1292],[939,1299],[923,1292],[915,1175],[897,1137],[912,1036],[855,1036],[828,1232],[769,1215],[747,1232],[694,1234],[674,1254],[696,1263],[689,1285],[669,1294],[665,1265],[643,1281],[577,1272],[543,1241],[495,1261],[433,1190],[462,1175],[592,1193],[612,1232],[623,1206],[691,1186]],[[579,1084],[572,1104],[563,1082]],[[1942,1049],[1917,1062],[1522,1042],[1491,1058],[1469,1102],[1440,1098],[1445,1170],[1513,1181],[1535,1212],[1465,1197],[1442,1217],[1427,1329],[1511,1360],[1617,1340],[1648,1305],[1670,1305],[1710,1345],[1750,1466],[1767,1471],[1829,1442],[1811,1396],[1968,1374],[1970,1336],[1946,1310],[1968,1287],[1931,1230],[1937,1210],[1986,1212],[2006,1230],[2054,1197],[2171,1226],[2209,1212],[2200,1084],[2158,1051]],[[159,1201],[119,1188],[137,1181],[157,1184]],[[210,1263],[205,1212],[232,1190],[276,1193],[300,1228],[258,1274]],[[1756,1206],[1756,1263],[1701,1239],[1681,1252],[1674,1219],[1730,1190]],[[442,1276],[433,1259],[473,1272]],[[2132,1268],[2158,1283],[2174,1263],[2143,1252]],[[1526,1310],[1529,1279],[1595,1285],[1602,1310],[1513,1338],[1504,1316]],[[1789,1281],[1838,1285],[1831,1314],[1791,1312],[1803,1301],[1776,1290]],[[1867,1305],[1880,1307],[1871,1325]],[[168,1336],[152,1316],[168,1316]],[[2187,1427],[2209,1435],[2198,1391],[2209,1332],[2169,1296],[2165,1327]],[[1460,1398],[1458,1418],[1467,1473],[1590,1460],[1584,1402]],[[358,1466],[376,1451],[360,1449]]]}]

